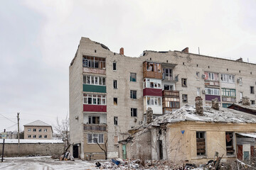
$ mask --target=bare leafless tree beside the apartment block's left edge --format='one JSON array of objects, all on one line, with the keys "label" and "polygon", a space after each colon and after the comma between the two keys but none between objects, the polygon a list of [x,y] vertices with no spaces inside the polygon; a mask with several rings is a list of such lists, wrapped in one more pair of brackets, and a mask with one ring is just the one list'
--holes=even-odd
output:
[{"label": "bare leafless tree beside the apartment block's left edge", "polygon": [[68,115],[66,115],[66,117],[63,120],[59,120],[57,117],[56,123],[57,125],[54,126],[54,130],[56,130],[56,132],[60,134],[60,137],[64,142],[64,152],[67,152],[68,148],[70,147],[70,124]]}]

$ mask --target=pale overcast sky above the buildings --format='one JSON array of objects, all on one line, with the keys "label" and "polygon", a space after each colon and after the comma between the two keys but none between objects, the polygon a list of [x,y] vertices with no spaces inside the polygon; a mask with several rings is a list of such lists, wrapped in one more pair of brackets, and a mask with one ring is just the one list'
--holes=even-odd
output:
[{"label": "pale overcast sky above the buildings", "polygon": [[[256,63],[256,1],[0,0],[0,132],[68,114],[81,37],[113,52],[183,50]],[[12,127],[11,127],[12,126]],[[11,128],[9,128],[11,127]]]}]

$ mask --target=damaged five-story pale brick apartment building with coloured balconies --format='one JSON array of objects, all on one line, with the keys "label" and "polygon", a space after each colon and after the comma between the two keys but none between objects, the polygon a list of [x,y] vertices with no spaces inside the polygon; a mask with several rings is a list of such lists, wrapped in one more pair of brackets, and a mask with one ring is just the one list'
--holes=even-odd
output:
[{"label": "damaged five-story pale brick apartment building with coloured balconies", "polygon": [[146,123],[149,108],[154,119],[194,104],[196,96],[204,106],[218,98],[223,108],[256,98],[255,64],[192,54],[188,47],[127,57],[124,48],[111,52],[81,38],[69,74],[71,152],[80,159],[104,159],[105,151],[120,157],[118,141]]}]

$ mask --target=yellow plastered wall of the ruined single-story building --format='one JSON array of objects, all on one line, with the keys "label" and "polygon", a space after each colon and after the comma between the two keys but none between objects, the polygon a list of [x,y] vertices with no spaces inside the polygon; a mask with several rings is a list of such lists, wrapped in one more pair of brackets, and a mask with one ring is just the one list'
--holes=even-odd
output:
[{"label": "yellow plastered wall of the ruined single-story building", "polygon": [[[181,130],[185,130],[182,135]],[[206,132],[206,156],[196,154],[196,132]],[[236,155],[226,154],[225,132],[255,132],[256,124],[252,123],[201,123],[181,122],[168,125],[169,155],[168,159],[174,162],[205,164],[213,159],[215,152],[219,157],[223,155],[223,161],[234,159]],[[235,135],[233,136],[234,149],[236,147]],[[235,151],[236,153],[236,151]]]}]

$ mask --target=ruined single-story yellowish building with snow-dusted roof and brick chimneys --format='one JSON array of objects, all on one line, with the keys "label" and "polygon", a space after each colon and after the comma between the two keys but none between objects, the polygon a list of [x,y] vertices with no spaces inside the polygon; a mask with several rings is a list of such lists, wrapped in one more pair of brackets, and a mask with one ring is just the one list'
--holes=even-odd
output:
[{"label": "ruined single-story yellowish building with snow-dusted roof and brick chimneys", "polygon": [[256,115],[219,108],[186,105],[129,131],[119,141],[122,159],[167,159],[172,162],[204,164],[223,155],[223,161],[250,159],[255,153]]}]

